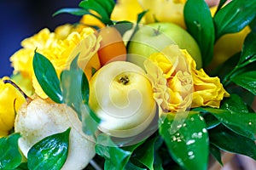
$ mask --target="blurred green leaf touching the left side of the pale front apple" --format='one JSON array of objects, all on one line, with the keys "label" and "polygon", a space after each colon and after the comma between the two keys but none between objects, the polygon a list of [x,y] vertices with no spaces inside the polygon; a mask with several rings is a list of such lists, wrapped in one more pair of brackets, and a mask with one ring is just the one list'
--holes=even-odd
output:
[{"label": "blurred green leaf touching the left side of the pale front apple", "polygon": [[84,71],[79,68],[78,59],[79,54],[73,59],[69,70],[62,71],[61,87],[65,103],[76,111],[83,122],[83,132],[92,135],[101,120],[88,105],[89,82]]}]

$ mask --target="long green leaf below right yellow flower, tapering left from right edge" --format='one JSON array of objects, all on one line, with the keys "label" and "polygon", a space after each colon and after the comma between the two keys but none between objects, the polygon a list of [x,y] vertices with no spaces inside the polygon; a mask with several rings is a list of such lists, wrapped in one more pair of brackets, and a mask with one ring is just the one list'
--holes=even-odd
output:
[{"label": "long green leaf below right yellow flower, tapering left from right edge", "polygon": [[219,122],[222,122],[230,130],[245,136],[249,139],[255,139],[256,134],[256,113],[241,113],[235,111],[225,111],[221,109],[203,108],[215,116]]}]

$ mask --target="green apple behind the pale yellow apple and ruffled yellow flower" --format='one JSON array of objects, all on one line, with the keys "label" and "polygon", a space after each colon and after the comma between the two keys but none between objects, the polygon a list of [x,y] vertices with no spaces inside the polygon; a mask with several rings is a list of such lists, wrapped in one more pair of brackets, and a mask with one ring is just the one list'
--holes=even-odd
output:
[{"label": "green apple behind the pale yellow apple and ruffled yellow flower", "polygon": [[128,46],[128,61],[143,66],[138,58],[148,58],[150,54],[160,52],[170,44],[177,44],[181,49],[187,49],[195,59],[197,68],[201,68],[201,51],[195,39],[182,27],[170,22],[156,22],[141,26],[131,38]]}]

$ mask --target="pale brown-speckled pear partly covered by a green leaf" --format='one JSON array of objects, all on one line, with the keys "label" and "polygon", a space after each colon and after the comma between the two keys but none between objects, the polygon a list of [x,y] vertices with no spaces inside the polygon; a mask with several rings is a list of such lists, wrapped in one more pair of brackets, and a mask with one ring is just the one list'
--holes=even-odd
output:
[{"label": "pale brown-speckled pear partly covered by a green leaf", "polygon": [[36,97],[22,105],[15,117],[15,132],[21,135],[19,147],[26,157],[33,144],[68,127],[69,149],[61,169],[83,169],[96,154],[95,143],[82,132],[82,123],[70,107]]}]

